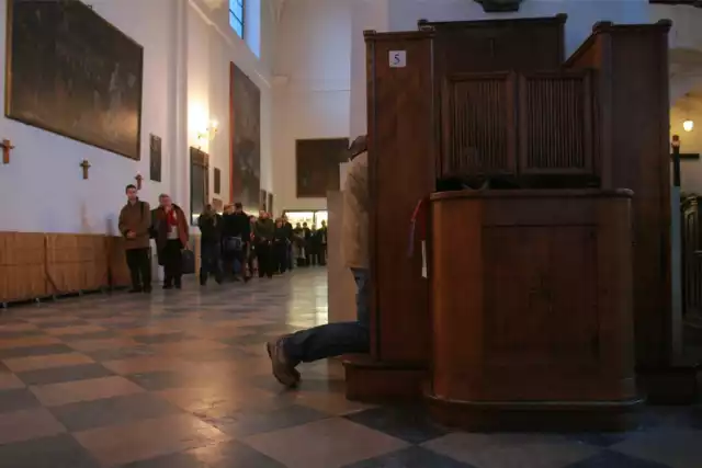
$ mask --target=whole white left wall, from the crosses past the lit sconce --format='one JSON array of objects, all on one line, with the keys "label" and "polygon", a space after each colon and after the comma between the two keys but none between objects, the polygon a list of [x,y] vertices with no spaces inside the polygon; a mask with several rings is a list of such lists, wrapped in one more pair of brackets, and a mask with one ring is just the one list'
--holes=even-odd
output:
[{"label": "whole white left wall, from the crosses past the lit sconce", "polygon": [[[261,0],[267,4],[269,0]],[[222,169],[223,199],[229,194],[229,62],[259,84],[261,109],[261,185],[272,189],[270,13],[261,14],[261,59],[228,25],[228,8],[214,0],[91,0],[95,11],[144,46],[141,160],[133,161],[89,145],[0,117],[0,137],[15,145],[11,163],[0,165],[0,230],[114,233],[124,204],[124,186],[144,175],[143,199],[157,203],[171,193],[190,204],[189,146],[208,118],[220,130],[203,150]],[[261,10],[268,9],[261,7]],[[0,0],[0,27],[5,25]],[[137,20],[138,21],[135,21]],[[4,34],[0,32],[0,36]],[[5,47],[0,47],[3,60]],[[268,56],[267,56],[268,54]],[[0,73],[3,85],[4,73]],[[206,126],[206,124],[205,124]],[[149,134],[162,137],[162,182],[149,175]],[[81,160],[90,161],[82,180]],[[211,171],[211,178],[214,171]],[[213,187],[211,180],[211,187]],[[12,199],[9,203],[8,199]]]}]

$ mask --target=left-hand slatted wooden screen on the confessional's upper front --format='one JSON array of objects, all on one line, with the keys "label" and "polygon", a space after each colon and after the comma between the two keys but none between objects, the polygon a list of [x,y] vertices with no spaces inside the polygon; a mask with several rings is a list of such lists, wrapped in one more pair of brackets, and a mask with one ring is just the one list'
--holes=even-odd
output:
[{"label": "left-hand slatted wooden screen on the confessional's upper front", "polygon": [[449,78],[442,105],[444,176],[516,172],[514,83],[511,73]]}]

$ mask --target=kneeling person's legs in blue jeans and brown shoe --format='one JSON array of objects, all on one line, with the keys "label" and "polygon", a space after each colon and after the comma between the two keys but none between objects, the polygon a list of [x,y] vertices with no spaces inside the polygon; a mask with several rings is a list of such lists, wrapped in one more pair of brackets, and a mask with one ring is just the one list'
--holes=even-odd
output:
[{"label": "kneeling person's legs in blue jeans and brown shoe", "polygon": [[273,375],[285,386],[294,386],[299,380],[295,369],[299,363],[310,363],[343,354],[367,353],[370,351],[370,292],[367,270],[352,270],[356,284],[355,322],[327,323],[296,333],[281,336],[267,343],[273,366]]}]

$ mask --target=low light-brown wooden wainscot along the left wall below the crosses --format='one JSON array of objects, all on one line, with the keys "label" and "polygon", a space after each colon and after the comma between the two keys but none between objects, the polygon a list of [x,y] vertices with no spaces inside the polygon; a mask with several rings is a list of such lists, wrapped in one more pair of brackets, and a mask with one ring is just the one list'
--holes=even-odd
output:
[{"label": "low light-brown wooden wainscot along the left wall below the crosses", "polygon": [[122,238],[0,232],[0,303],[128,284]]}]

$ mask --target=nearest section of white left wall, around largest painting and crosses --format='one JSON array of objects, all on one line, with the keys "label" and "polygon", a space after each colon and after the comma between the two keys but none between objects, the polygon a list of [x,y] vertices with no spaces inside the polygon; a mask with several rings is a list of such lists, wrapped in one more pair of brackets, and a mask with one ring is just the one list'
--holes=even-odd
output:
[{"label": "nearest section of white left wall, around largest painting and crosses", "polygon": [[[128,158],[52,134],[4,116],[3,138],[15,146],[11,161],[0,167],[0,230],[39,232],[114,231],[116,215],[124,204],[124,187],[145,176],[143,195],[151,201],[161,190],[147,181],[149,133],[165,136],[168,101],[169,21],[134,21],[135,18],[168,18],[170,0],[122,0],[95,2],[103,18],[144,46],[144,98],[141,160]],[[0,32],[5,37],[7,1],[0,1]],[[0,47],[4,64],[5,47]],[[5,75],[0,73],[4,87]],[[3,98],[4,99],[4,98]],[[170,146],[163,140],[163,155]],[[80,162],[90,162],[89,179],[82,180]],[[173,161],[163,158],[162,173]]]}]

